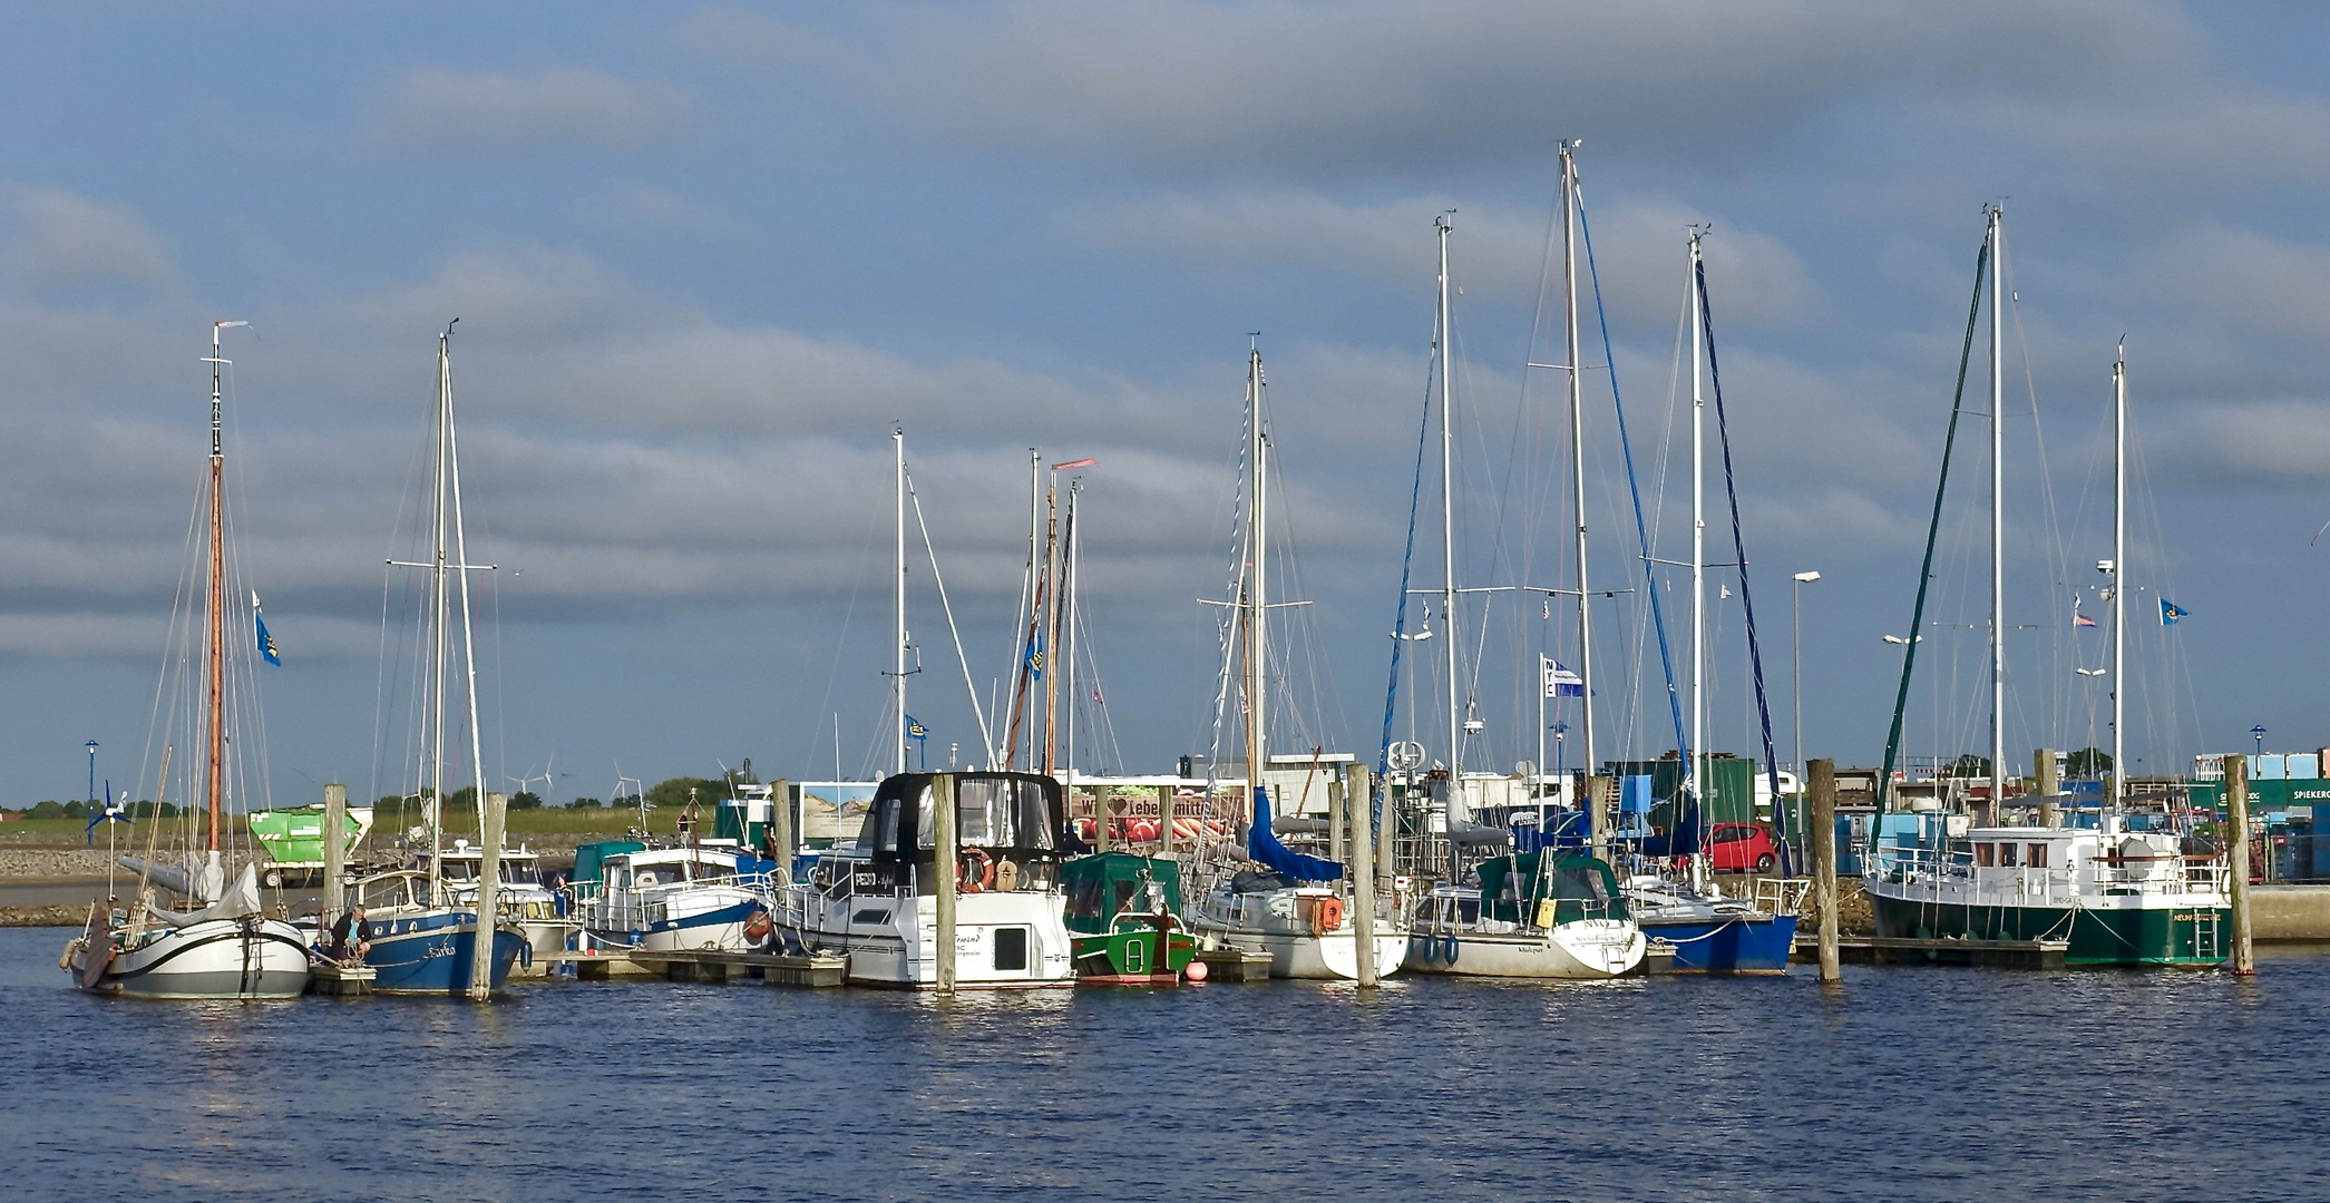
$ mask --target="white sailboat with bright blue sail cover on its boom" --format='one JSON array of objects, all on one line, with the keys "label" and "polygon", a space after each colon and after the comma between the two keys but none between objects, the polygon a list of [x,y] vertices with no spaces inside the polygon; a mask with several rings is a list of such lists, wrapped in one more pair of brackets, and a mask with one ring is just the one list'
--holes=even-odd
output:
[{"label": "white sailboat with bright blue sail cover on its boom", "polygon": [[[1263,417],[1263,352],[1247,352],[1247,487],[1244,571],[1237,625],[1244,632],[1247,790],[1254,797],[1247,856],[1254,870],[1235,872],[1205,891],[1191,909],[1191,930],[1209,947],[1268,954],[1270,977],[1358,977],[1358,914],[1344,900],[1344,867],[1286,849],[1270,825],[1268,662],[1270,662],[1270,431]],[[1354,800],[1354,804],[1358,804]],[[1354,856],[1368,865],[1368,856]],[[1372,870],[1358,870],[1372,872]],[[1377,975],[1407,961],[1407,930],[1393,914],[1375,919]]]}]

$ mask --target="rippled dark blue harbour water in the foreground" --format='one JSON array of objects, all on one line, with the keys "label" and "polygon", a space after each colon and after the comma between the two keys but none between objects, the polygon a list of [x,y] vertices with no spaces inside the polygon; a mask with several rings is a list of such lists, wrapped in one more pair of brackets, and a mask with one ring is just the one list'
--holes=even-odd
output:
[{"label": "rippled dark blue harbour water in the foreground", "polygon": [[2216,972],[91,998],[0,930],[0,1198],[2330,1198],[2330,956]]}]

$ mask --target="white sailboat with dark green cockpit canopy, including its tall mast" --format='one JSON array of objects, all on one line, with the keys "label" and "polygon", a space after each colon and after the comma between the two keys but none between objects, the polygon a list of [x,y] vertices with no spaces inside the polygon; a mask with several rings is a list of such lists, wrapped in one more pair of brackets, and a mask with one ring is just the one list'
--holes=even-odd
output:
[{"label": "white sailboat with dark green cockpit canopy, including its tall mast", "polygon": [[[1563,168],[1568,180],[1568,166]],[[1459,699],[1456,636],[1456,434],[1452,387],[1449,233],[1447,217],[1433,221],[1440,238],[1440,615],[1447,674],[1447,769],[1433,788],[1431,828],[1447,839],[1447,877],[1417,900],[1410,961],[1424,972],[1473,977],[1617,977],[1643,963],[1643,928],[1626,914],[1617,874],[1591,853],[1540,849],[1491,856],[1473,865],[1475,884],[1463,884],[1461,849],[1470,807],[1466,804],[1463,737],[1466,706]],[[1573,338],[1575,345],[1575,338]],[[1575,354],[1570,359],[1575,364]],[[1573,373],[1575,378],[1575,373]],[[1419,462],[1421,466],[1421,462]],[[1584,597],[1584,590],[1580,590]],[[1591,664],[1580,660],[1580,671]],[[1591,678],[1584,681],[1591,697]],[[1435,774],[1438,776],[1438,774]],[[1445,790],[1445,795],[1440,793]],[[1480,839],[1475,832],[1473,839]],[[1498,839],[1503,844],[1503,837]],[[1470,844],[1480,846],[1480,844]]]}]

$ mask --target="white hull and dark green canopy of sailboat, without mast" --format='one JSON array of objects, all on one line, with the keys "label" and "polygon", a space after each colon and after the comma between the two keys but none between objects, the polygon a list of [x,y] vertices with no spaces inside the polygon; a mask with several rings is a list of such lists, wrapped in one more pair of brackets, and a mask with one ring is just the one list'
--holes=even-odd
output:
[{"label": "white hull and dark green canopy of sailboat, without mast", "polygon": [[1647,940],[1617,874],[1540,849],[1480,863],[1477,886],[1433,886],[1412,916],[1410,963],[1470,977],[1601,979],[1643,963]]}]

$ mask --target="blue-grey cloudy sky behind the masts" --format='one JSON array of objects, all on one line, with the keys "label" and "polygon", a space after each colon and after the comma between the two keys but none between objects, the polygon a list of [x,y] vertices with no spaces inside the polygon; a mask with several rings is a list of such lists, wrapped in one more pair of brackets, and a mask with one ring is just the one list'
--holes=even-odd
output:
[{"label": "blue-grey cloudy sky behind the masts", "polygon": [[[79,797],[89,739],[98,776],[154,774],[214,319],[252,322],[226,333],[228,464],[240,571],[284,650],[252,711],[277,802],[410,788],[408,674],[382,653],[408,581],[384,560],[454,317],[471,541],[496,564],[487,776],[550,774],[564,800],[743,758],[876,772],[892,424],[972,676],[916,534],[909,711],[932,762],[979,758],[972,699],[993,709],[1016,660],[1030,448],[1097,459],[1062,473],[1076,692],[1100,695],[1079,762],[1214,748],[1200,599],[1233,569],[1256,331],[1277,590],[1309,602],[1275,618],[1272,739],[1372,758],[1442,214],[1459,583],[1508,590],[1456,615],[1482,720],[1463,760],[1535,758],[1533,657],[1575,653],[1561,599],[1512,592],[1575,578],[1566,385],[1528,366],[1561,359],[1563,138],[1601,305],[1587,567],[1633,590],[1596,602],[1601,758],[1675,746],[1647,602],[1685,671],[1687,578],[1645,574],[1624,450],[1650,560],[1687,560],[1685,228],[1710,231],[1778,755],[1789,576],[1820,571],[1803,753],[1873,765],[1990,203],[2011,758],[2109,741],[2109,685],[2078,674],[2104,643],[2071,618],[2106,615],[2123,336],[2134,767],[2248,748],[2253,725],[2267,748],[2330,744],[2330,16],[2309,5],[128,2],[7,5],[0,28],[0,804]],[[1911,755],[1987,746],[1980,352],[1974,378]],[[1708,560],[1734,564],[1708,455]],[[1440,583],[1428,466],[1417,588]],[[1727,574],[1708,746],[1759,755]],[[2160,597],[2190,618],[2160,627]],[[1424,660],[1393,734],[1431,741]]]}]

